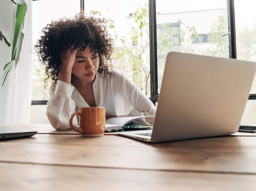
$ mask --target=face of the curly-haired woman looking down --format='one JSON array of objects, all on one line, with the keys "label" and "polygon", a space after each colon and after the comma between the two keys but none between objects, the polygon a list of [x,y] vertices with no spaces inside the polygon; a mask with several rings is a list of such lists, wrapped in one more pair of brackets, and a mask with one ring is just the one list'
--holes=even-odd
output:
[{"label": "face of the curly-haired woman looking down", "polygon": [[89,46],[84,51],[76,53],[76,59],[72,68],[72,73],[83,82],[94,81],[99,68],[99,55],[95,51],[91,52]]}]

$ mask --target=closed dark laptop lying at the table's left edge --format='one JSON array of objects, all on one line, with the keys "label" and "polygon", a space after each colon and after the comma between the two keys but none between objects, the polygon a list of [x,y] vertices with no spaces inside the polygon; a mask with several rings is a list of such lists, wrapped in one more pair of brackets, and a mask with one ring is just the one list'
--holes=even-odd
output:
[{"label": "closed dark laptop lying at the table's left edge", "polygon": [[0,126],[0,140],[25,138],[37,134],[37,131],[27,131],[13,126]]}]

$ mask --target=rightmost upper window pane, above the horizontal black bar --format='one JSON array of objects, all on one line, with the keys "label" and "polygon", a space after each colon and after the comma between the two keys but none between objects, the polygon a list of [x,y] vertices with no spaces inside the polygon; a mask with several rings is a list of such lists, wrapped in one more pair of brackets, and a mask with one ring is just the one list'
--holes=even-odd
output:
[{"label": "rightmost upper window pane, above the horizontal black bar", "polygon": [[[256,62],[256,1],[234,0],[234,6],[237,59]],[[256,94],[256,78],[250,93]]]}]

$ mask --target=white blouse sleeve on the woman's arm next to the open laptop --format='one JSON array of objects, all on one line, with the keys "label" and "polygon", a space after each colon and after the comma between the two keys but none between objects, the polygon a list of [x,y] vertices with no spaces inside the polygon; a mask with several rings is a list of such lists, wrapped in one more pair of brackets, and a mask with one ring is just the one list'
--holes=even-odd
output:
[{"label": "white blouse sleeve on the woman's arm next to the open laptop", "polygon": [[[156,106],[129,78],[125,77],[127,95],[130,101],[131,109],[129,116],[155,116]],[[137,122],[134,121],[134,122]],[[139,119],[141,125],[151,125],[154,123],[154,117]]]}]

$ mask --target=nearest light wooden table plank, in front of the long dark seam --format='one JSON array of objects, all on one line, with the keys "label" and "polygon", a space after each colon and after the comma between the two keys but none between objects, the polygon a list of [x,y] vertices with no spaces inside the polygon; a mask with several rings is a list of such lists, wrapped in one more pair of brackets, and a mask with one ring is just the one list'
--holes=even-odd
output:
[{"label": "nearest light wooden table plank, in front of the long dark seam", "polygon": [[[250,191],[256,175],[0,163],[1,191]],[[11,178],[9,178],[11,177]]]}]

